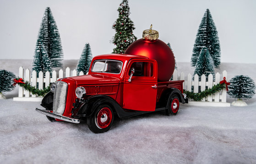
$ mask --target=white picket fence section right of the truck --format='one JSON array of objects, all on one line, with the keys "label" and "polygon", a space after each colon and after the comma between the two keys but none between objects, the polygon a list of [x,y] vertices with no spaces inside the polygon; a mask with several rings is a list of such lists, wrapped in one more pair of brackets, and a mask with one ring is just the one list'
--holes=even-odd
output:
[{"label": "white picket fence section right of the truck", "polygon": [[[194,76],[194,81],[192,81],[192,75],[189,73],[186,78],[184,72],[178,73],[174,70],[173,79],[175,80],[184,80],[183,89],[187,91],[192,91],[192,86],[194,87],[193,92],[198,93],[199,86],[201,87],[201,91],[204,91],[206,87],[211,88],[213,85],[218,84],[220,81],[223,80],[223,77],[227,77],[227,71],[222,72],[222,76],[220,73],[215,74],[215,81],[213,81],[212,74],[209,74],[208,81],[206,81],[206,76],[203,74],[201,76],[201,81],[199,81],[199,76],[196,74]],[[227,103],[227,90],[224,88],[221,92],[217,92],[213,95],[207,96],[203,98],[200,102],[190,101],[189,105],[195,106],[219,106],[219,107],[229,107],[230,103]]]}]

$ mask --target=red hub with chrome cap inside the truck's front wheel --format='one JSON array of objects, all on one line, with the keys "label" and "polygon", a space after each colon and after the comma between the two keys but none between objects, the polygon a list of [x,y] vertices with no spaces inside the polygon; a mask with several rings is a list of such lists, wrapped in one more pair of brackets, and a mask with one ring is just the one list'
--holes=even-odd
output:
[{"label": "red hub with chrome cap inside the truck's front wheel", "polygon": [[112,112],[109,108],[102,108],[97,115],[98,128],[107,128],[112,121]]}]

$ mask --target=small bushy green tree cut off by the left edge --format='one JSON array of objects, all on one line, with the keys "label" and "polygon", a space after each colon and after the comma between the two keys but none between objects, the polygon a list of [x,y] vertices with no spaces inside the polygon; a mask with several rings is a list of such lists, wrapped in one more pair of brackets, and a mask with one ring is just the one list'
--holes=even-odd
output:
[{"label": "small bushy green tree cut off by the left edge", "polygon": [[14,86],[12,84],[14,83],[13,79],[15,78],[16,75],[14,73],[0,70],[0,93],[13,90]]}]

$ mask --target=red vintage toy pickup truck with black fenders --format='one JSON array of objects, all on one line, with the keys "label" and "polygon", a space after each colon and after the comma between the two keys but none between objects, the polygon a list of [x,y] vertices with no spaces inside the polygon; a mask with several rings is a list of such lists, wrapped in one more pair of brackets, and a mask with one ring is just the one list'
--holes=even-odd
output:
[{"label": "red vintage toy pickup truck with black fenders", "polygon": [[158,63],[145,56],[108,54],[93,58],[88,75],[65,77],[51,84],[42,100],[49,121],[80,123],[94,133],[109,130],[114,117],[125,118],[153,111],[176,115],[184,81],[158,82]]}]

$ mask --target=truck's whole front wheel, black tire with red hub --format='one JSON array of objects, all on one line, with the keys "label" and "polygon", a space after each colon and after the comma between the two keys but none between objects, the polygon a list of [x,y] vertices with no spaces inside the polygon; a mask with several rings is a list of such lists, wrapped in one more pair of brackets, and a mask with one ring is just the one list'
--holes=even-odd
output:
[{"label": "truck's whole front wheel, black tire with red hub", "polygon": [[103,104],[98,106],[93,114],[87,118],[88,128],[93,133],[104,133],[109,130],[114,122],[114,113],[112,108]]}]

